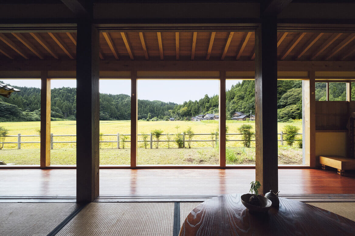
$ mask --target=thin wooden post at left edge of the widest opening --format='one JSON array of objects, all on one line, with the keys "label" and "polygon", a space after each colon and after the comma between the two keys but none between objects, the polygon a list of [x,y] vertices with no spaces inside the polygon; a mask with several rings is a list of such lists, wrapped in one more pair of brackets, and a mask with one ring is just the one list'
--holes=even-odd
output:
[{"label": "thin wooden post at left edge of the widest opening", "polygon": [[137,166],[138,151],[138,100],[137,100],[137,72],[131,71],[131,168]]}]

